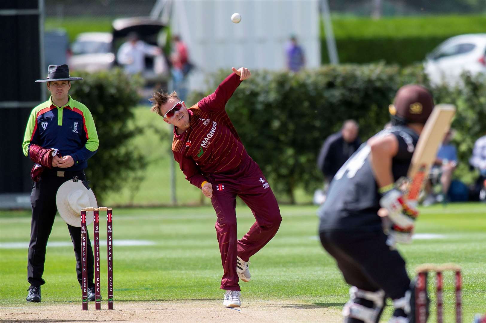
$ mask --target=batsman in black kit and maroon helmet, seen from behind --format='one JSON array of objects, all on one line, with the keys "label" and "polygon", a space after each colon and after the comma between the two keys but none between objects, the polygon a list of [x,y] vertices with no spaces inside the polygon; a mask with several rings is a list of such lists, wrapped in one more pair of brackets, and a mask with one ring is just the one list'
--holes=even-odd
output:
[{"label": "batsman in black kit and maroon helmet, seen from behind", "polygon": [[[407,175],[433,108],[426,88],[401,87],[389,106],[393,126],[368,139],[347,160],[318,211],[321,243],[352,286],[343,309],[346,323],[379,322],[386,297],[395,307],[390,322],[415,322],[414,283],[395,243],[411,240],[418,212],[394,183]],[[385,228],[388,235],[379,213],[391,221]]]}]

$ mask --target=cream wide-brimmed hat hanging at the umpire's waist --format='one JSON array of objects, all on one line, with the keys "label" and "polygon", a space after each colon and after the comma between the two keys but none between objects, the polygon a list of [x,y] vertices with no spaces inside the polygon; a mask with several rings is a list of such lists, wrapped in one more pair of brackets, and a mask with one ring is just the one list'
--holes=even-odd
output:
[{"label": "cream wide-brimmed hat hanging at the umpire's waist", "polygon": [[[81,209],[98,207],[93,190],[83,181],[67,181],[59,187],[56,195],[57,211],[69,225],[81,227]],[[86,217],[86,225],[93,217]]]}]

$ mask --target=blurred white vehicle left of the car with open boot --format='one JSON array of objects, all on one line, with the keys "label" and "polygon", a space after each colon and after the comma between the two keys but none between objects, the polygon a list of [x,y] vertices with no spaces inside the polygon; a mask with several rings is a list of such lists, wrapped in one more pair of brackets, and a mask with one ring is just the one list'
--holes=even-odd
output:
[{"label": "blurred white vehicle left of the car with open boot", "polygon": [[88,72],[110,69],[115,62],[112,42],[111,33],[79,34],[71,45],[69,68]]}]

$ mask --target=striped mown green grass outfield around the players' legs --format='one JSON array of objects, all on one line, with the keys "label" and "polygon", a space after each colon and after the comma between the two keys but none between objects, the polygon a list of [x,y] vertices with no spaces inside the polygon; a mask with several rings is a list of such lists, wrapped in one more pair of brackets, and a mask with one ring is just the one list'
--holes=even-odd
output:
[{"label": "striped mown green grass outfield around the players' legs", "polygon": [[[251,258],[252,281],[241,283],[245,301],[295,300],[341,308],[348,287],[329,255],[316,239],[315,206],[281,206],[277,236]],[[250,210],[237,207],[238,233],[253,223]],[[114,240],[149,240],[149,246],[114,248],[115,302],[144,300],[220,299],[221,257],[214,230],[214,210],[203,207],[120,208],[114,210]],[[0,244],[27,242],[30,212],[0,212]],[[92,227],[89,228],[92,235]],[[400,246],[407,269],[421,263],[454,262],[463,267],[464,322],[486,308],[486,206],[450,204],[422,209],[417,233],[444,235],[417,239]],[[103,233],[101,238],[104,239]],[[64,222],[57,218],[50,242],[69,243]],[[102,287],[106,297],[106,255],[102,244]],[[27,248],[0,248],[0,295],[3,307],[24,306]],[[48,247],[42,288],[43,302],[80,302],[72,246]],[[433,279],[431,279],[433,280]],[[452,321],[453,283],[444,277],[446,319]],[[432,282],[429,289],[433,289]],[[434,293],[432,293],[434,298]],[[390,304],[390,303],[389,303]],[[1,308],[1,307],[0,307]],[[387,306],[383,320],[391,315]],[[434,316],[434,310],[433,314]],[[435,319],[432,318],[433,322]]]}]

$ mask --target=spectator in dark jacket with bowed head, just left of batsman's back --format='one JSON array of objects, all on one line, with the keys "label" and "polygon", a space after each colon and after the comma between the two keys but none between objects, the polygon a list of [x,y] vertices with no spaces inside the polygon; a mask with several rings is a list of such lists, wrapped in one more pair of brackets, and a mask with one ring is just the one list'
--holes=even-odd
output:
[{"label": "spectator in dark jacket with bowed head, just left of batsman's back", "polygon": [[328,183],[347,159],[360,147],[361,140],[358,138],[358,130],[359,126],[356,121],[346,120],[339,132],[330,135],[324,141],[317,159],[317,165],[319,170],[324,173]]}]

